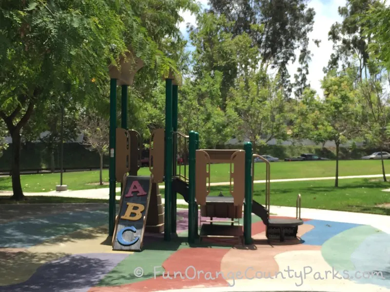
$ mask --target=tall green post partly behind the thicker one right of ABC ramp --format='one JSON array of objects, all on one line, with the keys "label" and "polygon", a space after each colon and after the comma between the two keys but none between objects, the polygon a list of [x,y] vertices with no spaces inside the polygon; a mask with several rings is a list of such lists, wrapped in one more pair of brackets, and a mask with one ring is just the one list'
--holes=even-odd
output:
[{"label": "tall green post partly behind the thicker one right of ABC ramp", "polygon": [[[172,128],[173,131],[177,131],[177,108],[178,108],[178,86],[173,85],[172,86]],[[174,135],[174,137],[177,137]],[[177,171],[177,139],[173,140],[173,175],[176,176]],[[177,204],[177,193],[175,191],[172,192],[172,233],[176,233],[176,204]]]}]

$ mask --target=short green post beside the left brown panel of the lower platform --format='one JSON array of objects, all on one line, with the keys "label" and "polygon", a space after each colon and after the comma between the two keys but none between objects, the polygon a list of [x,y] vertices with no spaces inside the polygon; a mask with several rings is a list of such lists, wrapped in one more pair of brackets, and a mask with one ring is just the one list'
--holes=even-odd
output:
[{"label": "short green post beside the left brown panel of the lower platform", "polygon": [[[189,141],[189,159],[188,159],[188,185],[189,185],[189,200],[188,200],[188,242],[195,242],[195,234],[197,230],[197,219],[195,217],[195,154],[196,154],[196,132],[191,131]],[[196,209],[195,209],[196,208]],[[197,210],[196,210],[197,211]],[[197,215],[197,212],[196,212]]]}]

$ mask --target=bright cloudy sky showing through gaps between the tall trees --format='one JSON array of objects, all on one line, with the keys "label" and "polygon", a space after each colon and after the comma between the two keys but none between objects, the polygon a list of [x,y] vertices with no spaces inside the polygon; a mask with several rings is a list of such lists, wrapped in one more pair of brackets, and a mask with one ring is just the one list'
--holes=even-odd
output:
[{"label": "bright cloudy sky showing through gaps between the tall trees", "polygon": [[[208,7],[207,0],[200,0],[199,2],[203,8]],[[308,80],[312,88],[315,89],[321,97],[322,90],[320,80],[324,77],[322,69],[327,66],[333,51],[332,42],[328,40],[328,32],[334,22],[342,21],[342,18],[338,15],[338,7],[344,6],[345,3],[346,0],[310,0],[308,3],[308,6],[314,8],[315,11],[313,30],[309,35],[311,40],[309,49],[312,51],[312,61],[309,64]],[[186,24],[191,23],[192,25],[196,25],[195,15],[191,15],[188,11],[181,11],[181,16],[184,21],[179,24],[179,28],[181,33],[185,37],[188,37]],[[314,45],[314,42],[312,41],[313,38],[321,40],[319,48]],[[188,49],[191,50],[192,47],[189,46]],[[288,66],[292,82],[294,81],[293,76],[294,73],[296,73],[297,67],[297,62],[290,62]]]}]

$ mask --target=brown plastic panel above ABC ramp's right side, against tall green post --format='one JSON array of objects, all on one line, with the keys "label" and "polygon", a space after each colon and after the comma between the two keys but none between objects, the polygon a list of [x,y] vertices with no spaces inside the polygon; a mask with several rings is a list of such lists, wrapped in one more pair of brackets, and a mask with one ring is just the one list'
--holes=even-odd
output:
[{"label": "brown plastic panel above ABC ramp's right side, against tall green post", "polygon": [[150,140],[149,169],[154,183],[162,183],[164,177],[165,130],[154,129]]}]

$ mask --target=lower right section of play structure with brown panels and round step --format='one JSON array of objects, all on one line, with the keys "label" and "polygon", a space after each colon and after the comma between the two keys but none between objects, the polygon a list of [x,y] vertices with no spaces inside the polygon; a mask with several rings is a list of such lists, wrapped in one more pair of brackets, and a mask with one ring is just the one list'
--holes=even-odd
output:
[{"label": "lower right section of play structure with brown panels and round step", "polygon": [[[246,144],[246,150],[215,150],[200,149],[195,154],[195,202],[200,206],[200,239],[208,238],[236,238],[242,242],[249,242],[251,224],[251,213],[259,216],[266,225],[266,236],[268,239],[279,239],[281,242],[287,239],[296,238],[298,226],[303,224],[300,218],[301,196],[297,197],[296,218],[295,219],[270,219],[270,163],[260,155],[252,154],[252,145]],[[265,205],[253,200],[254,184],[254,158],[258,157],[266,164],[265,183]],[[210,169],[211,164],[230,164],[230,194],[231,196],[209,196],[210,194]],[[191,162],[190,162],[190,170]],[[192,183],[190,184],[192,189]],[[245,195],[245,196],[244,196]],[[190,197],[190,200],[193,198]],[[249,202],[246,204],[246,202]],[[244,232],[239,224],[242,218],[242,208],[244,208]],[[251,210],[249,210],[249,207]],[[246,211],[246,212],[245,212]],[[190,215],[191,216],[191,215]],[[196,215],[195,216],[196,219]],[[201,220],[202,217],[209,217],[210,220]],[[215,220],[217,218],[217,220]],[[195,220],[193,219],[193,220]],[[218,220],[230,219],[230,220]],[[191,221],[191,218],[190,218]],[[214,223],[231,223],[214,224]],[[191,223],[190,225],[191,226]],[[189,230],[197,236],[197,229]],[[247,234],[245,234],[247,233]],[[193,240],[190,240],[190,242]]]}]

